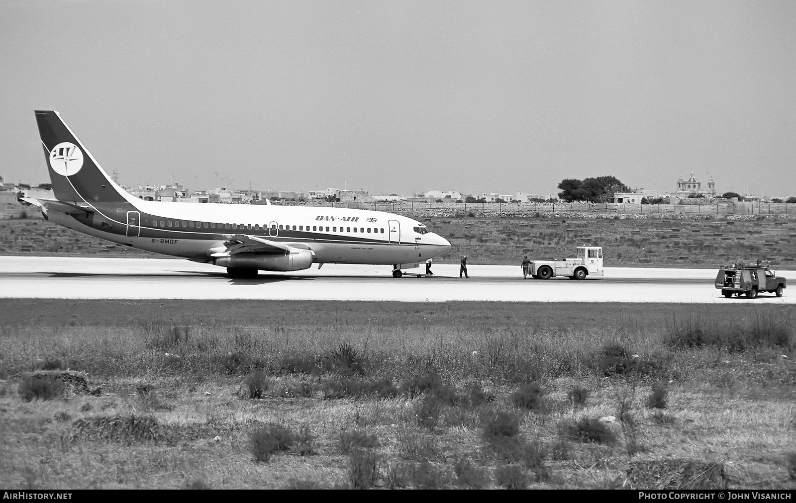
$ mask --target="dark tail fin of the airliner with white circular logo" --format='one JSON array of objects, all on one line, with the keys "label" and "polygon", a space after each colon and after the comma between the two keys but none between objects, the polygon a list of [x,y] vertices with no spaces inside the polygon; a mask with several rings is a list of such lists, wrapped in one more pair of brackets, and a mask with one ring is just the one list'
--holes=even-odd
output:
[{"label": "dark tail fin of the airliner with white circular logo", "polygon": [[50,181],[59,201],[127,201],[123,189],[107,176],[57,111],[35,113]]}]

